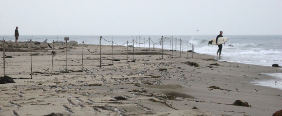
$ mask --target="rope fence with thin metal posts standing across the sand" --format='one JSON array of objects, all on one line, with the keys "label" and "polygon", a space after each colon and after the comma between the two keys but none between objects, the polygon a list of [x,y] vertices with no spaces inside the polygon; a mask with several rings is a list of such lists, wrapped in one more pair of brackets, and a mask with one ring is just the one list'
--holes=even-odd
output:
[{"label": "rope fence with thin metal posts standing across the sand", "polygon": [[[1,36],[2,37],[2,36]],[[0,37],[0,38],[1,38]],[[5,36],[3,36],[3,38],[5,38]],[[81,64],[81,67],[83,68],[83,51],[84,51],[84,47],[86,48],[86,50],[88,51],[88,52],[90,52],[90,53],[94,53],[94,52],[97,52],[97,50],[98,50],[98,48],[100,47],[100,65],[99,66],[102,66],[101,65],[101,62],[102,62],[102,40],[103,40],[103,42],[111,42],[111,45],[112,45],[112,64],[111,65],[114,65],[114,61],[119,61],[119,60],[117,60],[117,59],[114,59],[114,45],[117,45],[117,46],[127,46],[127,62],[130,62],[129,61],[129,56],[128,56],[128,47],[130,46],[130,45],[128,45],[128,43],[131,43],[132,45],[130,46],[130,47],[132,47],[133,48],[133,60],[131,61],[131,62],[135,62],[135,56],[134,56],[134,54],[135,54],[135,50],[134,50],[134,45],[136,45],[136,47],[137,47],[137,44],[139,44],[139,47],[140,47],[140,44],[142,45],[142,44],[144,44],[144,50],[145,50],[145,44],[148,42],[149,43],[149,47],[147,47],[147,50],[148,50],[148,60],[150,60],[150,49],[151,49],[151,42],[153,43],[153,50],[155,49],[155,45],[161,45],[161,50],[162,50],[162,58],[161,59],[163,59],[163,51],[164,51],[164,41],[167,41],[167,42],[170,42],[170,48],[171,48],[171,50],[170,51],[172,51],[172,57],[177,57],[177,41],[179,41],[179,51],[180,51],[180,55],[179,55],[179,57],[181,57],[181,53],[183,53],[183,42],[184,43],[187,43],[187,52],[186,52],[186,54],[187,54],[187,57],[189,58],[189,52],[188,52],[188,50],[189,50],[189,44],[192,46],[191,47],[191,49],[192,49],[192,58],[194,57],[194,44],[191,44],[191,43],[189,43],[189,41],[187,41],[187,42],[185,42],[185,41],[182,41],[181,39],[177,39],[177,38],[174,38],[174,37],[161,37],[161,40],[160,41],[158,41],[158,42],[154,42],[150,37],[149,37],[149,39],[143,39],[144,40],[144,42],[143,43],[140,43],[140,39],[142,39],[140,36],[139,37],[137,37],[136,36],[136,39],[139,39],[139,42],[137,42],[137,41],[135,41],[134,39],[133,39],[133,36],[131,36],[131,38],[132,38],[132,40],[129,42],[129,41],[126,41],[125,43],[123,43],[123,44],[117,44],[116,42],[114,42],[113,40],[112,41],[109,41],[109,40],[106,40],[106,39],[104,39],[102,36],[100,36],[100,40],[99,40],[99,43],[97,44],[98,46],[97,46],[97,48],[93,51],[93,52],[91,52],[88,48],[87,48],[87,46],[85,45],[85,42],[84,41],[82,41],[80,44],[77,44],[77,45],[73,45],[73,44],[70,44],[69,42],[67,42],[67,40],[63,43],[63,44],[58,44],[58,43],[56,43],[54,40],[53,40],[53,42],[52,43],[50,43],[50,44],[48,44],[48,43],[46,43],[46,44],[48,44],[47,46],[44,46],[44,45],[39,45],[39,44],[36,44],[36,42],[34,42],[32,39],[33,38],[36,38],[36,37],[30,37],[29,38],[29,41],[28,42],[26,42],[24,45],[21,45],[21,46],[16,46],[16,45],[12,45],[11,43],[7,43],[7,41],[6,40],[4,40],[3,39],[3,41],[0,43],[0,47],[2,47],[3,48],[3,66],[4,66],[4,76],[5,76],[5,52],[6,52],[6,47],[8,48],[8,50],[9,49],[11,49],[11,48],[22,48],[22,47],[27,47],[28,46],[28,43],[30,43],[30,56],[31,56],[31,79],[32,79],[32,52],[33,52],[33,50],[32,50],[32,45],[36,45],[36,46],[38,46],[38,47],[41,47],[41,48],[44,48],[44,47],[50,47],[51,48],[51,45],[53,46],[53,50],[52,50],[52,68],[51,68],[51,76],[52,76],[52,74],[53,74],[53,57],[55,57],[56,56],[56,52],[54,51],[54,49],[55,49],[55,46],[54,45],[57,45],[57,47],[58,46],[63,46],[63,45],[65,45],[66,44],[66,47],[65,47],[65,49],[66,49],[66,69],[65,69],[65,71],[69,71],[68,69],[67,69],[67,49],[68,49],[68,47],[67,47],[67,45],[70,45],[70,46],[82,46],[82,64]],[[54,38],[52,38],[52,39],[58,39],[59,37],[54,37]],[[82,38],[82,37],[80,37],[80,38]],[[87,37],[85,37],[85,40],[86,40],[86,38]],[[89,37],[89,38],[97,38],[97,37]],[[108,38],[110,38],[110,37],[108,37]],[[113,37],[111,37],[112,39],[113,39]],[[124,38],[129,38],[129,37],[124,37]],[[167,39],[172,39],[172,40],[167,40]],[[40,38],[38,38],[38,39],[40,39]],[[77,39],[77,38],[75,38],[75,39]],[[164,39],[166,39],[166,40],[164,40]],[[57,40],[58,41],[58,40]],[[174,48],[173,48],[173,45],[174,45],[174,43],[173,42],[175,42],[175,50],[174,50]],[[32,44],[33,43],[33,44]],[[182,51],[181,51],[182,50]],[[174,56],[174,51],[175,51],[175,56]]]}]

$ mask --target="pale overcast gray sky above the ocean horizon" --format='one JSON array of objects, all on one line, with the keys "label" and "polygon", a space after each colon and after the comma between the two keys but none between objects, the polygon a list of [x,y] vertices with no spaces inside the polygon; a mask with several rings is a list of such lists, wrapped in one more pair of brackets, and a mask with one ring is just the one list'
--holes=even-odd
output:
[{"label": "pale overcast gray sky above the ocean horizon", "polygon": [[0,35],[16,26],[20,35],[281,35],[282,0],[0,0]]}]

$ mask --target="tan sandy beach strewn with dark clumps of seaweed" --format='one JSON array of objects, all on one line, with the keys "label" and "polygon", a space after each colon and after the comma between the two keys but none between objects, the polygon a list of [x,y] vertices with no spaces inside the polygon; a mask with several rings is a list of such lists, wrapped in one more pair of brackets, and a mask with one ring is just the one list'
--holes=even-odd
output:
[{"label": "tan sandy beach strewn with dark clumps of seaweed", "polygon": [[[8,42],[8,44],[13,43]],[[19,46],[24,44],[19,43]],[[127,50],[124,46],[112,48],[111,45],[101,47],[101,67],[98,67],[100,65],[98,45],[86,45],[87,49],[82,45],[68,45],[72,48],[67,48],[67,62],[66,49],[61,49],[65,45],[54,45],[52,47],[57,54],[53,57],[52,67],[52,49],[32,46],[34,47],[32,54],[38,55],[30,56],[30,43],[13,49],[26,50],[26,52],[8,52],[7,50],[5,52],[7,56],[12,56],[12,58],[5,58],[5,75],[11,78],[29,79],[14,79],[16,83],[0,84],[1,116],[10,116],[13,110],[20,116],[43,116],[52,112],[69,115],[63,105],[74,112],[70,114],[71,116],[271,116],[282,108],[281,90],[249,83],[249,81],[275,79],[262,72],[281,72],[278,67],[222,62],[212,60],[214,56],[198,53],[194,53],[194,58],[191,58],[191,52],[189,57],[186,52],[181,52],[180,57],[180,51],[176,51],[177,56],[174,51],[172,57],[172,51],[169,50],[164,50],[162,59],[162,51],[157,48],[154,50],[150,48],[149,57],[148,48],[144,50],[143,47],[134,47],[135,55],[133,56],[133,47],[128,47]],[[47,44],[40,46],[47,46]],[[9,49],[12,50],[12,48]],[[88,50],[90,52],[96,50],[96,52],[90,53]],[[1,57],[3,57],[2,53]],[[113,57],[117,60],[113,61]],[[32,79],[30,79],[31,58]],[[133,59],[135,62],[127,62]],[[187,62],[196,62],[199,66],[189,66]],[[63,69],[66,68],[66,63],[67,70],[72,72],[65,73]],[[108,65],[112,63],[113,65]],[[214,63],[220,66],[211,65]],[[0,64],[0,74],[3,76],[3,58]],[[78,83],[78,81],[82,82]],[[242,83],[246,85],[243,86]],[[273,81],[274,84],[275,81]],[[53,88],[50,89],[48,86]],[[67,86],[70,89],[66,89]],[[210,91],[210,86],[225,90]],[[81,88],[81,91],[76,88]],[[46,91],[43,92],[42,89]],[[258,90],[257,93],[255,89]],[[23,97],[19,97],[20,91],[24,93],[21,94]],[[89,94],[86,95],[88,92]],[[134,96],[133,93],[139,93],[139,95]],[[72,97],[69,98],[68,95]],[[131,98],[125,100],[111,98],[124,98],[125,95]],[[76,106],[71,106],[67,101],[68,98]],[[81,109],[76,99],[82,100],[80,104],[85,108]],[[93,100],[93,103],[88,103],[88,99]],[[232,105],[236,100],[248,102],[251,107]],[[9,101],[22,107],[18,109]],[[93,107],[98,108],[100,112],[95,112]],[[115,111],[115,107],[119,110],[124,108],[127,112],[119,113]],[[146,111],[146,107],[151,110]],[[193,107],[198,109],[192,109]]]}]

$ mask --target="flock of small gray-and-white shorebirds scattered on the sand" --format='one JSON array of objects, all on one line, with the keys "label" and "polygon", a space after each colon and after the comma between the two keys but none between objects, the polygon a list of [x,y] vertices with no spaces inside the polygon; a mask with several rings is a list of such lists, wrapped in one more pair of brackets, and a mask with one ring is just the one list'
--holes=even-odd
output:
[{"label": "flock of small gray-and-white shorebirds scattered on the sand", "polygon": [[[53,57],[55,56],[55,54],[56,53],[54,52],[53,53]],[[189,72],[190,75],[189,75],[189,78],[188,78],[183,73],[183,71],[181,71],[182,68],[176,66],[175,62],[148,63],[147,61],[144,61],[144,60],[142,60],[141,62],[143,64],[143,67],[142,67],[141,70],[138,70],[137,73],[136,72],[132,73],[132,72],[128,71],[128,69],[131,69],[131,66],[130,66],[131,64],[130,63],[127,63],[126,66],[120,66],[120,68],[113,67],[113,66],[111,66],[110,68],[105,68],[105,67],[99,66],[98,68],[93,68],[93,69],[89,70],[89,69],[83,67],[83,68],[81,68],[81,70],[83,70],[85,72],[85,74],[86,74],[82,78],[84,80],[78,80],[78,81],[76,81],[76,83],[78,85],[83,84],[83,86],[86,86],[86,88],[87,88],[91,84],[86,83],[86,81],[89,80],[88,77],[91,77],[91,80],[95,79],[98,82],[103,83],[104,86],[105,85],[111,85],[111,84],[124,84],[124,83],[127,83],[127,84],[128,83],[130,83],[130,84],[138,84],[138,85],[143,85],[143,84],[146,84],[146,83],[156,83],[157,85],[163,85],[162,80],[170,80],[170,79],[174,79],[175,77],[177,77],[177,79],[175,79],[175,80],[183,82],[184,85],[187,84],[187,88],[190,88],[192,85],[189,84],[188,82],[194,81],[195,79],[191,79],[191,78],[195,77],[193,75],[197,75],[197,73],[195,73],[195,70],[196,70],[197,67],[195,67],[195,66],[193,66],[194,69],[191,72]],[[138,61],[138,64],[140,64],[141,62]],[[173,69],[176,69],[176,70],[175,71],[167,71],[166,69],[161,68],[161,67],[164,67],[164,66],[170,66],[170,67],[173,67]],[[50,73],[49,69],[43,69],[43,70],[45,71],[45,73]],[[60,70],[59,74],[63,74],[63,72],[67,72],[67,71],[69,73],[71,73],[71,71],[67,70],[67,69],[59,68],[59,70]],[[156,72],[159,72],[159,74],[156,73]],[[219,70],[217,72],[221,73],[222,71]],[[120,74],[117,74],[117,73],[120,73]],[[179,73],[179,75],[178,75],[178,73]],[[118,75],[120,75],[120,77],[117,77]],[[157,78],[155,80],[152,80],[153,78],[149,79],[149,78],[147,78],[148,76],[158,76],[159,78]],[[243,75],[243,76],[247,77],[247,75]],[[96,79],[97,77],[99,79]],[[129,77],[131,77],[131,78],[129,78]],[[66,85],[60,86],[60,84],[62,84],[62,83],[65,83],[65,84],[68,83],[70,85],[71,82],[68,82],[67,81],[68,79],[69,79],[69,77],[62,75],[62,81],[61,82],[56,82],[56,86],[47,85],[44,88],[41,88],[41,91],[43,93],[46,93],[46,92],[52,91],[52,89],[54,89],[54,92],[56,94],[60,94],[60,93],[62,93],[62,91],[69,91],[69,90],[75,90],[75,91],[78,91],[78,93],[81,93],[81,92],[84,91],[83,88],[71,88],[71,87],[66,86]],[[204,80],[201,77],[198,77],[198,79],[199,79],[199,82],[202,82],[201,80]],[[226,80],[228,80],[228,79],[229,79],[229,76],[226,77]],[[260,80],[261,78],[258,78],[258,79]],[[214,78],[212,78],[212,81],[216,81],[216,80]],[[253,78],[253,81],[255,81],[255,78]],[[277,83],[277,81],[275,83]],[[246,85],[246,83],[242,83],[242,85],[244,87]],[[15,90],[17,90],[17,89],[18,89],[18,87],[15,86]],[[235,88],[235,89],[236,89],[236,92],[239,92],[238,88]],[[143,90],[144,89],[140,88],[138,90],[139,92],[132,93],[132,97],[133,98],[139,97],[140,96],[140,92],[142,92]],[[213,89],[209,89],[210,92],[212,92],[212,90]],[[113,91],[114,91],[114,89],[110,89],[110,93],[113,94]],[[255,92],[257,93],[257,92],[259,92],[259,90],[255,89]],[[232,92],[230,90],[230,91],[227,91],[227,93],[230,95],[230,93],[232,93]],[[18,97],[20,99],[24,98],[23,94],[24,94],[23,92],[19,91]],[[86,92],[85,95],[86,96],[91,96],[91,93]],[[83,110],[83,108],[87,108],[87,105],[83,105],[83,103],[89,103],[91,105],[93,103],[95,103],[91,99],[87,99],[87,100],[84,101],[84,100],[81,100],[79,98],[76,98],[75,101],[78,103],[78,105],[76,105],[71,100],[71,98],[73,97],[72,95],[68,95],[67,97],[68,97],[67,98],[68,104],[70,106],[72,106],[72,108],[79,107],[80,110]],[[125,95],[124,96],[124,98],[126,98],[126,99],[131,99],[132,97],[129,96],[129,95]],[[110,98],[110,100],[116,101],[117,99],[112,96]],[[17,103],[13,103],[11,101],[9,102],[9,104],[12,105],[12,106],[15,106],[16,108],[18,108],[18,110],[22,107],[21,105],[19,105]],[[71,108],[69,108],[65,104],[63,105],[63,109],[66,111],[66,113],[68,113],[70,115],[75,113],[75,112],[73,112],[71,110]],[[93,107],[92,110],[95,112],[95,114],[97,114],[98,112],[101,112],[99,110],[99,108],[97,108],[97,107]],[[147,112],[151,112],[152,111],[152,109],[150,109],[148,107],[145,107],[144,110],[147,111]],[[124,108],[118,109],[117,107],[115,107],[114,111],[117,112],[121,116],[126,115],[126,113],[128,112]],[[0,108],[0,112],[2,112],[1,108]],[[18,113],[15,110],[12,111],[12,115],[19,116]]]}]

